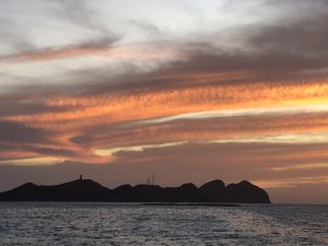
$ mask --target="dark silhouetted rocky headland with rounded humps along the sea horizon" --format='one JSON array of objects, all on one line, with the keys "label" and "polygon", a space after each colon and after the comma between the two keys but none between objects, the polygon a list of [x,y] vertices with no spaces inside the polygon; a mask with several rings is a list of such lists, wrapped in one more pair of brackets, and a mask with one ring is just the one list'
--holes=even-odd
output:
[{"label": "dark silhouetted rocky headland with rounded humps along the sea horizon", "polygon": [[179,187],[122,185],[108,189],[91,179],[78,179],[55,186],[26,183],[0,192],[0,201],[271,203],[268,194],[249,181],[225,186],[218,179],[199,188],[188,183]]}]

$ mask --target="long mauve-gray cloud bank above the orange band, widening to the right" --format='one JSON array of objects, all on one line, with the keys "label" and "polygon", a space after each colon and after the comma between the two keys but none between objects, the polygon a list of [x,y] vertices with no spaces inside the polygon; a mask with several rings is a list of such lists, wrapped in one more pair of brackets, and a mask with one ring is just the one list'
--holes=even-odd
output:
[{"label": "long mauve-gray cloud bank above the orange band, widening to the right", "polygon": [[[298,14],[297,20],[294,20],[295,13],[291,13],[290,19],[276,23],[257,23],[226,31],[233,33],[235,39],[242,40],[243,48],[218,48],[212,44],[213,36],[202,42],[197,38],[194,42],[166,42],[162,45],[174,47],[181,51],[185,58],[173,60],[151,72],[140,72],[137,67],[127,62],[124,66],[129,69],[116,78],[113,78],[110,68],[102,68],[74,72],[74,77],[70,79],[81,81],[85,84],[83,86],[86,92],[95,93],[96,91],[141,90],[142,87],[161,90],[171,86],[188,86],[194,83],[188,79],[190,73],[248,70],[254,72],[253,81],[326,77],[328,74],[326,42],[328,32],[325,23],[328,21],[328,15],[325,12],[317,13],[316,9],[313,11],[311,16]],[[144,32],[160,32],[152,25],[145,28]],[[179,79],[178,74],[186,74],[186,78]],[[91,80],[97,83],[89,86]],[[247,82],[248,80],[248,78],[226,79],[226,82]]]}]

